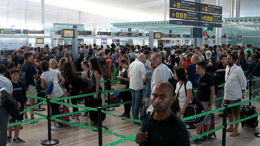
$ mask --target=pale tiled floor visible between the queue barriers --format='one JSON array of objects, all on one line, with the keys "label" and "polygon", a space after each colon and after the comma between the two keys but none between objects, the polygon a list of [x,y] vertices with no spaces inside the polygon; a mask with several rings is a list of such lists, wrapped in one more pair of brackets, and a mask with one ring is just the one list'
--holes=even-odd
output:
[{"label": "pale tiled floor visible between the queue barriers", "polygon": [[[246,98],[245,100],[248,100]],[[256,101],[254,103],[254,106],[257,107],[258,110],[256,110],[258,113],[260,112],[260,101]],[[46,103],[43,104],[44,108],[46,108]],[[70,111],[72,111],[72,108],[69,108]],[[113,114],[119,115],[124,112],[124,106],[115,107],[116,110],[110,111]],[[41,111],[42,114],[47,114],[47,111]],[[219,117],[218,114],[221,112],[215,113],[215,127],[218,127],[222,125],[222,117]],[[35,118],[39,118],[39,116],[35,115]],[[90,118],[87,117],[80,117],[80,121],[82,125],[89,125],[92,126],[92,123],[90,121]],[[116,118],[110,115],[106,116],[105,121],[103,121],[103,126],[108,127],[108,130],[122,134],[125,136],[132,135],[137,132],[138,126],[134,126],[131,121],[127,120],[121,120],[120,118]],[[47,130],[47,120],[42,120],[34,124],[23,124],[23,129],[20,131],[19,137],[26,141],[24,144],[19,143],[13,143],[10,142],[7,144],[7,146],[11,145],[24,145],[24,146],[39,146],[41,145],[40,142],[42,140],[48,139],[48,130]],[[196,135],[196,129],[189,130],[193,136]],[[238,137],[230,137],[230,132],[227,132],[226,136],[226,145],[238,145],[238,146],[260,146],[260,138],[255,137],[254,133],[260,132],[260,128],[250,129],[250,128],[241,128],[241,124],[239,126],[239,132],[240,135]],[[98,132],[94,132],[90,129],[83,129],[79,127],[61,127],[58,128],[58,131],[51,131],[52,138],[59,140],[58,145],[63,146],[96,146],[98,145]],[[13,132],[14,135],[14,132]],[[202,144],[199,144],[201,146],[203,145],[214,145],[214,146],[220,146],[222,145],[222,130],[219,130],[216,132],[217,137],[210,139],[208,142],[204,142]],[[110,142],[119,140],[121,138],[116,137],[114,135],[106,134],[103,132],[103,145],[108,144]],[[127,141],[120,145],[124,146],[134,146],[137,145],[134,142]],[[162,144],[163,145],[163,144]]]}]

